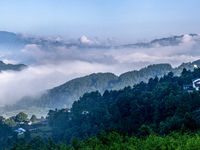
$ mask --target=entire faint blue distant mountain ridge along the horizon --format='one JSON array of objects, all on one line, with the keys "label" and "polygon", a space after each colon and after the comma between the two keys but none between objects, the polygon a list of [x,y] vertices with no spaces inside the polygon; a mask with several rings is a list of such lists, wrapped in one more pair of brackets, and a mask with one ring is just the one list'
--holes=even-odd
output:
[{"label": "entire faint blue distant mountain ridge along the horizon", "polygon": [[[189,34],[189,36],[194,37],[197,36],[197,34]],[[124,44],[124,45],[118,45],[118,46],[107,46],[104,44],[97,44],[97,45],[88,45],[86,43],[81,43],[79,40],[66,42],[66,41],[60,41],[55,39],[48,39],[43,37],[34,37],[34,36],[26,36],[23,34],[15,34],[12,32],[7,31],[0,31],[0,46],[8,46],[8,47],[20,47],[22,48],[26,44],[38,44],[45,47],[47,44],[52,46],[65,46],[66,48],[71,47],[77,47],[79,49],[85,49],[85,48],[99,48],[99,49],[107,49],[107,48],[137,48],[137,47],[143,47],[143,48],[150,48],[155,46],[156,44],[159,44],[161,46],[176,46],[181,43],[182,38],[184,35],[180,36],[171,36],[168,38],[161,38],[161,39],[155,39],[151,42],[140,42],[140,43],[134,43],[134,44]]]}]

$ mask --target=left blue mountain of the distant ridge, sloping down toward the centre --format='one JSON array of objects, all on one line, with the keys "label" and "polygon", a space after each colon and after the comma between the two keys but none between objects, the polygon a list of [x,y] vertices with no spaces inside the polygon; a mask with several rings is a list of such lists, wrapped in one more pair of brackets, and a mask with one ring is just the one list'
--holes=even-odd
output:
[{"label": "left blue mountain of the distant ridge, sloping down toward the centre", "polygon": [[36,37],[32,35],[16,34],[7,31],[0,31],[0,48],[21,50],[27,44],[37,44],[44,49],[48,49],[49,46],[58,47],[64,46],[66,48],[77,47],[79,49],[85,48],[110,48],[105,45],[88,45],[74,40],[72,42],[66,42],[59,37]]}]

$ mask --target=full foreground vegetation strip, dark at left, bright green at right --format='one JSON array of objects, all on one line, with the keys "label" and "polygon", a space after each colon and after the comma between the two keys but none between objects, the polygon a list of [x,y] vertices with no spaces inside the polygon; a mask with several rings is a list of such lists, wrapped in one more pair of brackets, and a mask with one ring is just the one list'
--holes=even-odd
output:
[{"label": "full foreground vegetation strip, dark at left, bright green at right", "polygon": [[198,150],[200,135],[172,132],[167,136],[151,133],[149,136],[137,138],[124,136],[116,132],[101,133],[98,136],[85,137],[83,140],[72,139],[70,145],[65,142],[54,143],[51,139],[45,141],[37,136],[31,140],[19,139],[10,150]]}]

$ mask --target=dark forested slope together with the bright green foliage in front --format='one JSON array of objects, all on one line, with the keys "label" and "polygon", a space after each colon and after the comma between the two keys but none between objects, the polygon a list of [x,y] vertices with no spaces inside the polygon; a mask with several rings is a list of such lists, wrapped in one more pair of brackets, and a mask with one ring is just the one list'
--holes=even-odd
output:
[{"label": "dark forested slope together with the bright green foliage in front", "polygon": [[183,89],[198,77],[199,68],[183,69],[181,76],[85,93],[72,108],[49,110],[49,139],[18,139],[11,149],[198,149],[200,93]]}]

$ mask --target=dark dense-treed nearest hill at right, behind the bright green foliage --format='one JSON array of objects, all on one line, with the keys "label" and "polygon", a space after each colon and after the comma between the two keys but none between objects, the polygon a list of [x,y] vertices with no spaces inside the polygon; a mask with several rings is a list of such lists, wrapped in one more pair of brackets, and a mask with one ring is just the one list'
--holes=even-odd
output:
[{"label": "dark dense-treed nearest hill at right, behind the bright green foliage", "polygon": [[183,70],[181,76],[172,72],[151,78],[133,87],[106,90],[103,94],[86,93],[72,108],[50,110],[49,124],[53,140],[69,142],[72,137],[83,138],[102,131],[122,135],[159,135],[172,131],[197,133],[200,129],[200,92],[183,90],[183,85],[200,77],[200,69]]}]

